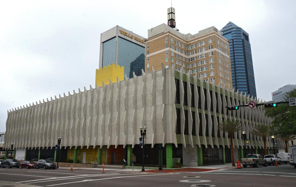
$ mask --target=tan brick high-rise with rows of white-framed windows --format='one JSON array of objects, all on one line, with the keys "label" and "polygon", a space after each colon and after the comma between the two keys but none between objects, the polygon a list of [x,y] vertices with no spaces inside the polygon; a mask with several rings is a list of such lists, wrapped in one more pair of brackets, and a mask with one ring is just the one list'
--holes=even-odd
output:
[{"label": "tan brick high-rise with rows of white-framed windows", "polygon": [[191,76],[210,80],[232,89],[230,52],[228,40],[215,27],[197,34],[182,34],[166,24],[148,30],[145,72],[160,70],[163,64],[177,71],[190,72]]}]

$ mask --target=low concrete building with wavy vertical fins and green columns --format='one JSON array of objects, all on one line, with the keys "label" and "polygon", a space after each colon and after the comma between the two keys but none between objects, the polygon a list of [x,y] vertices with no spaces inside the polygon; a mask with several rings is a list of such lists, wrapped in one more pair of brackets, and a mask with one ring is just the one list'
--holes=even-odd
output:
[{"label": "low concrete building with wavy vertical fins and green columns", "polygon": [[[258,123],[271,124],[264,107],[228,111],[225,106],[259,99],[192,77],[175,66],[151,70],[117,83],[70,92],[8,111],[5,148],[14,143],[16,155],[27,160],[56,159],[55,144],[62,137],[62,162],[122,164],[136,156],[142,163],[140,127],[147,127],[145,163],[168,168],[178,159],[185,166],[231,162],[230,139],[219,123],[240,120],[242,130],[234,134],[235,161],[243,157],[242,131],[250,140],[247,152],[263,153],[263,141],[252,134]],[[101,70],[100,70],[101,71]],[[279,149],[282,140],[276,139]],[[267,138],[268,150],[272,148]]]}]

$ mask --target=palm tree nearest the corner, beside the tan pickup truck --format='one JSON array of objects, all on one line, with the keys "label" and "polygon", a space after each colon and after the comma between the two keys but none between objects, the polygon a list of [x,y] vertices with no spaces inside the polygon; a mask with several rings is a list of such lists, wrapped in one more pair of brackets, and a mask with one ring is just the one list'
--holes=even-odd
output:
[{"label": "palm tree nearest the corner, beside the tan pickup truck", "polygon": [[241,122],[240,121],[223,121],[219,125],[219,129],[222,131],[225,131],[230,136],[230,149],[231,149],[231,160],[232,160],[232,166],[235,166],[234,163],[234,154],[233,154],[233,139],[232,136],[235,132],[238,130],[241,130]]}]

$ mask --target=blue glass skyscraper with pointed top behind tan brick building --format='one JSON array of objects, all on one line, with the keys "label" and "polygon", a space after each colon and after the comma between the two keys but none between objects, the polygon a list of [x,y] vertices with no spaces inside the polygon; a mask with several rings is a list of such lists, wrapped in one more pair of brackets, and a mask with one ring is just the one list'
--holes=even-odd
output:
[{"label": "blue glass skyscraper with pointed top behind tan brick building", "polygon": [[232,86],[234,90],[257,96],[249,34],[231,21],[221,29],[230,41]]}]

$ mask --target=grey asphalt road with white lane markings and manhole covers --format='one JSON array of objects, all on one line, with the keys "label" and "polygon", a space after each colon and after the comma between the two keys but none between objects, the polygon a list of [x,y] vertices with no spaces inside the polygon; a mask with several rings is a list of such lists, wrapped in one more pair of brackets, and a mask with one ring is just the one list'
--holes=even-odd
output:
[{"label": "grey asphalt road with white lane markings and manhole covers", "polygon": [[294,187],[296,185],[296,169],[289,164],[278,167],[247,167],[190,173],[101,172],[4,168],[0,169],[2,180],[0,186],[5,186],[5,181],[57,187]]}]

